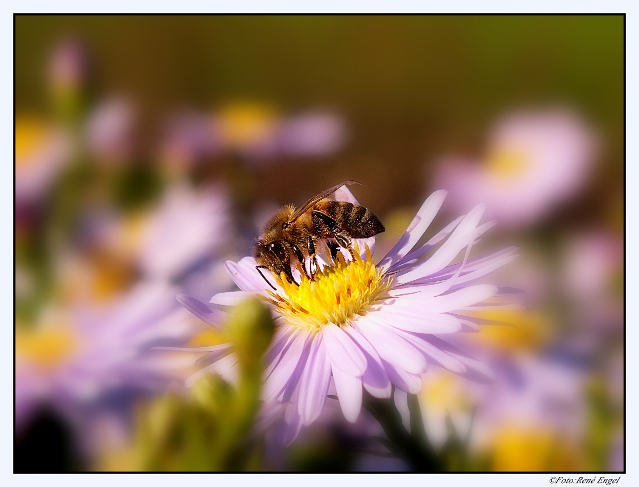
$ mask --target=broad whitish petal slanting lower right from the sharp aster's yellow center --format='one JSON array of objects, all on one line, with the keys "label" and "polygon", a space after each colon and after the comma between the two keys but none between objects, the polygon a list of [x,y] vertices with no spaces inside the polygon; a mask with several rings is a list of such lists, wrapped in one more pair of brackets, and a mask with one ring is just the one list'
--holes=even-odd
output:
[{"label": "broad whitish petal slanting lower right from the sharp aster's yellow center", "polygon": [[353,327],[375,348],[381,359],[412,373],[426,370],[426,360],[397,331],[373,320],[374,311],[353,321]]}]

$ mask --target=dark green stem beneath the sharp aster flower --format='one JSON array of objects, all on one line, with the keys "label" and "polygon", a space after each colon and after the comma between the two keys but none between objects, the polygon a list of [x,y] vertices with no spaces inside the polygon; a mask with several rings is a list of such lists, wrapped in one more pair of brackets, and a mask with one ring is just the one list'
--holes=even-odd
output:
[{"label": "dark green stem beneath the sharp aster flower", "polygon": [[417,396],[408,394],[411,433],[406,431],[401,414],[394,400],[395,388],[389,399],[374,398],[364,390],[362,405],[380,423],[387,437],[385,446],[397,456],[406,460],[415,472],[438,472],[440,465],[433,447],[429,444],[422,422]]}]

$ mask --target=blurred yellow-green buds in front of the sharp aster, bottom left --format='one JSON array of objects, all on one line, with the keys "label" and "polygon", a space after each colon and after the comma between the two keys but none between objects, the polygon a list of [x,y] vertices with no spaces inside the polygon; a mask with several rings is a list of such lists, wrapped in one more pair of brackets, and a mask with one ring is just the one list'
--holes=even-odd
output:
[{"label": "blurred yellow-green buds in front of the sharp aster, bottom left", "polygon": [[207,375],[190,398],[164,396],[137,417],[135,453],[141,470],[228,471],[260,468],[261,357],[273,335],[270,312],[258,299],[239,304],[226,330],[238,357],[238,382]]}]

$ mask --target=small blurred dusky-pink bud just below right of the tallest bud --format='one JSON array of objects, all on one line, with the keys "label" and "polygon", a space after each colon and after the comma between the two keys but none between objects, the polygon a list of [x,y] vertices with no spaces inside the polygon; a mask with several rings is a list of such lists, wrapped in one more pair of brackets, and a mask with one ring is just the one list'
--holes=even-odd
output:
[{"label": "small blurred dusky-pink bud just below right of the tallest bud", "polygon": [[89,116],[86,139],[89,151],[100,162],[123,162],[133,149],[135,111],[126,98],[111,98]]}]

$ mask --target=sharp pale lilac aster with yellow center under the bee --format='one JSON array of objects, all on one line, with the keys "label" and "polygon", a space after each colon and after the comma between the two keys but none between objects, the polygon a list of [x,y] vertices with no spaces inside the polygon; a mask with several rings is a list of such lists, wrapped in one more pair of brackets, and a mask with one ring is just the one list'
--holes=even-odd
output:
[{"label": "sharp pale lilac aster with yellow center under the bee", "polygon": [[[497,287],[469,284],[514,259],[515,249],[468,259],[473,242],[494,224],[479,225],[485,209],[480,205],[412,250],[445,195],[440,190],[428,197],[399,242],[377,265],[371,259],[374,238],[356,241],[358,250],[352,260],[344,249],[335,261],[324,254],[318,259],[321,271],[314,282],[296,271],[299,286],[271,275],[267,276],[269,286],[252,257],[226,261],[227,271],[241,291],[219,293],[211,299],[212,304],[235,305],[259,295],[272,306],[277,331],[265,357],[263,399],[282,404],[282,444],[290,444],[302,425],[317,419],[331,378],[344,417],[350,422],[357,421],[360,413],[362,386],[376,398],[389,398],[392,384],[416,394],[422,387],[420,374],[428,363],[480,382],[491,381],[487,366],[439,335],[477,329],[481,320],[463,316],[463,311],[508,306],[481,303],[500,295]],[[346,187],[337,190],[334,198],[357,203]],[[431,249],[435,251],[424,259]],[[452,264],[464,249],[463,261]],[[216,320],[221,317],[214,316],[217,309],[190,297],[178,299],[204,321],[219,323]],[[189,382],[206,373],[233,380],[234,354],[216,359],[211,355],[208,360],[215,362]]]}]

